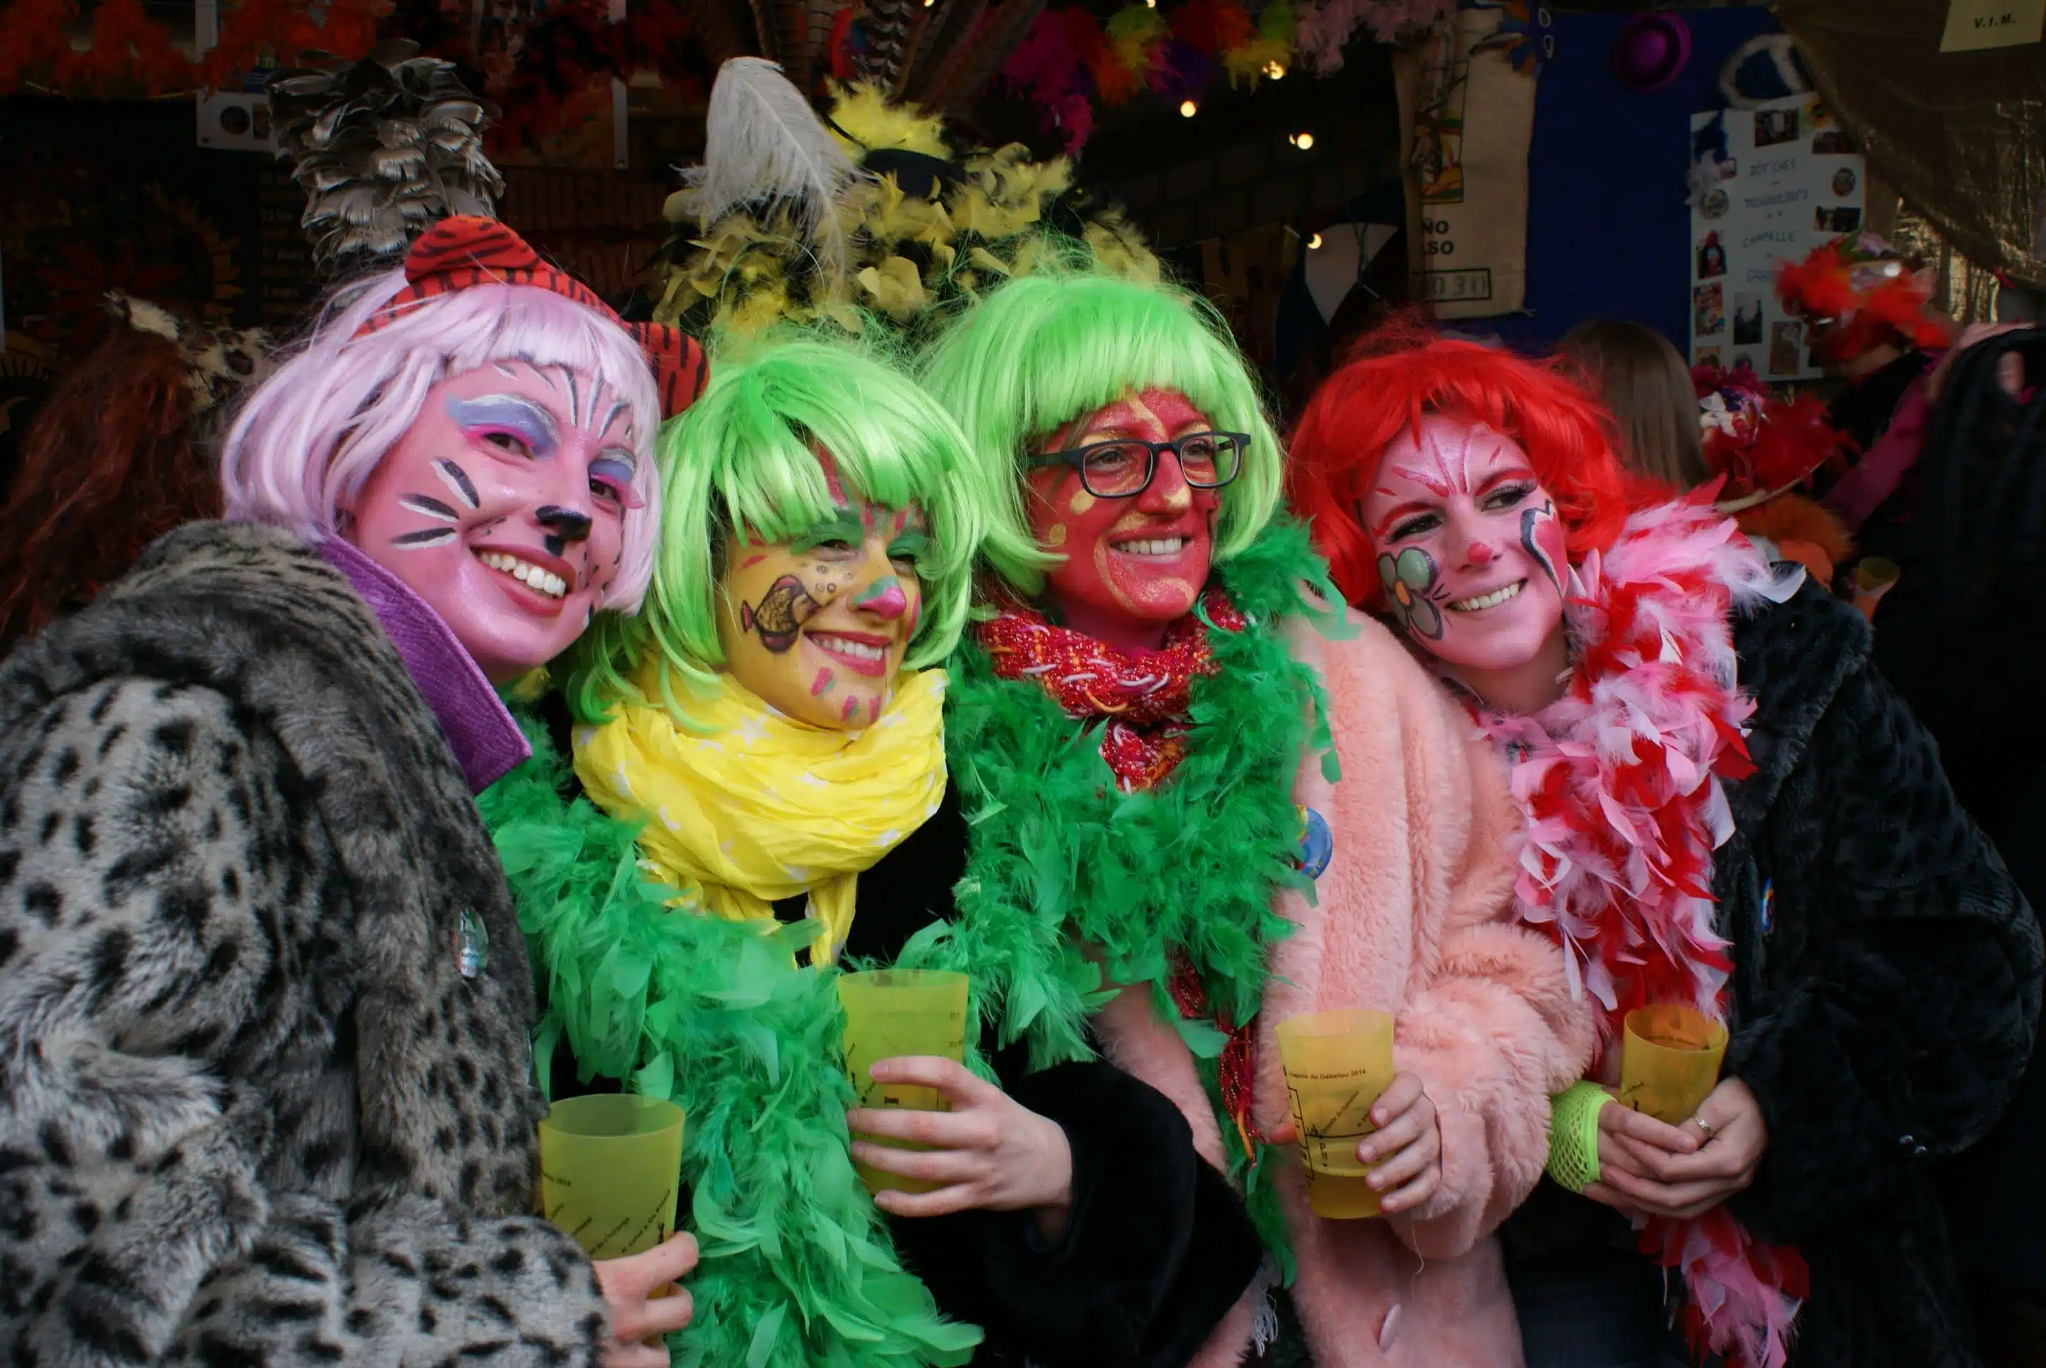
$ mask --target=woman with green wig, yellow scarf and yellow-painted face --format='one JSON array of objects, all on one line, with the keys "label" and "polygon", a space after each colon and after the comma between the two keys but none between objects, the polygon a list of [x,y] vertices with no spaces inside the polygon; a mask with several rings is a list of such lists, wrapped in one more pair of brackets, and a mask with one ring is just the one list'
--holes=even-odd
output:
[{"label": "woman with green wig, yellow scarf and yellow-painted face", "polygon": [[[626,1086],[690,1112],[704,1258],[679,1362],[1131,1360],[1136,1341],[1103,1360],[1060,1327],[976,1354],[972,1325],[1011,1305],[1113,1307],[1117,1270],[1156,1284],[1148,1329],[1189,1272],[1154,1227],[1187,1225],[1197,1168],[1164,1096],[1107,1063],[1031,1071],[1025,1051],[992,1051],[984,1076],[945,1080],[951,1110],[917,1137],[937,1190],[870,1198],[855,1153],[890,1170],[902,1151],[847,1145],[831,965],[941,943],[953,912],[933,663],[966,624],[992,517],[958,425],[900,372],[808,339],[722,364],[692,413],[663,436],[642,615],[602,624],[567,687],[577,810],[610,824],[604,857],[526,881],[554,1092]],[[882,1213],[947,1258],[906,1272]],[[1193,1319],[1164,1315],[1138,1362],[1185,1362]],[[1095,1321],[1107,1343],[1127,1335]]]}]

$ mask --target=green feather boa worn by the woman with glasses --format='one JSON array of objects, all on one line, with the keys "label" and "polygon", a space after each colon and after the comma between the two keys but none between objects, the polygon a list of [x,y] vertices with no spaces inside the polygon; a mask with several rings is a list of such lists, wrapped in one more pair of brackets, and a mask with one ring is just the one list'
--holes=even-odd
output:
[{"label": "green feather boa worn by the woman with glasses", "polygon": [[[1101,734],[1029,681],[996,679],[968,642],[949,660],[945,753],[972,826],[960,918],[921,932],[904,963],[966,969],[1000,1043],[1027,1041],[1031,1067],[1088,1059],[1086,1016],[1109,984],[1150,984],[1215,1104],[1230,1176],[1291,1282],[1285,1221],[1260,1184],[1262,1145],[1244,1149],[1215,1065],[1226,1035],[1181,1020],[1166,992],[1172,957],[1193,961],[1209,1004],[1246,1022],[1264,992],[1266,947],[1291,930],[1273,896],[1295,887],[1293,777],[1309,746],[1334,777],[1322,685],[1293,660],[1281,622],[1309,615],[1342,632],[1340,595],[1299,523],[1279,521],[1217,566],[1244,632],[1209,632],[1215,673],[1193,683],[1187,755],[1170,781],[1121,793]],[[1305,599],[1318,587],[1326,605]],[[1099,953],[1099,959],[1095,959]]]}]

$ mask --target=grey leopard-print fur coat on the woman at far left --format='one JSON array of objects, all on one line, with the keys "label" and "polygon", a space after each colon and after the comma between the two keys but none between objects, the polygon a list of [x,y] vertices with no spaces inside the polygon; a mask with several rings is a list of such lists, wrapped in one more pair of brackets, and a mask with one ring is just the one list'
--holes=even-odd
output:
[{"label": "grey leopard-print fur coat on the woman at far left", "polygon": [[4,1362],[595,1362],[518,1215],[530,1018],[454,755],[309,546],[194,523],[0,667]]}]

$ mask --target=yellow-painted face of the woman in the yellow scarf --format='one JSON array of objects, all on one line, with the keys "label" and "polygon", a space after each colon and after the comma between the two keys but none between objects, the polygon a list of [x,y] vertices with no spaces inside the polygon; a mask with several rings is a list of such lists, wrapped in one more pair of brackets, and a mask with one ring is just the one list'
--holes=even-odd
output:
[{"label": "yellow-painted face of the woman in the yellow scarf", "polygon": [[872,726],[917,636],[929,548],[923,511],[845,493],[822,460],[837,511],[788,542],[735,532],[718,579],[718,644],[741,685],[810,726]]}]

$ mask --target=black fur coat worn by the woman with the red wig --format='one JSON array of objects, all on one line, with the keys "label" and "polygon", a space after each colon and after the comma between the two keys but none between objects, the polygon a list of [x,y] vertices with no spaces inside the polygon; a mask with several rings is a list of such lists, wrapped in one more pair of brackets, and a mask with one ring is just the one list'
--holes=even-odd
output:
[{"label": "black fur coat worn by the woman with the red wig", "polygon": [[1794,1368],[1962,1368],[1933,1172],[2026,1069],[2040,928],[1856,609],[1807,585],[1733,640],[1758,773],[1731,791],[1713,892],[1735,963],[1727,1074],[1770,1147],[1731,1206],[1811,1266]]}]

